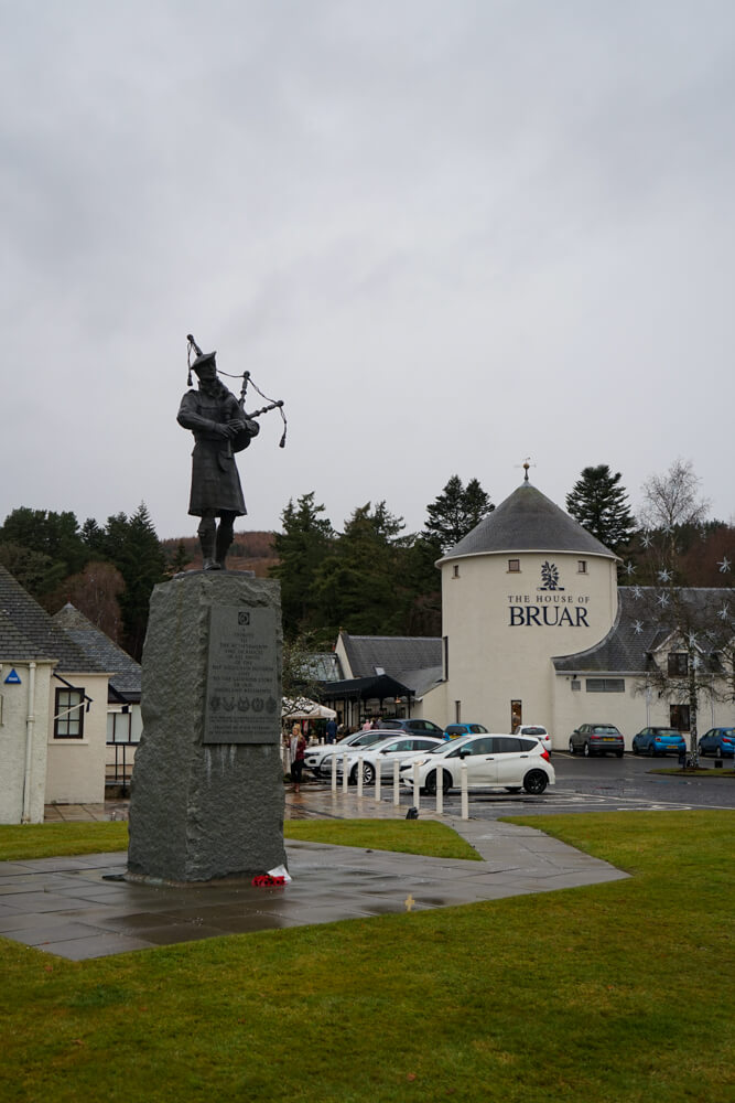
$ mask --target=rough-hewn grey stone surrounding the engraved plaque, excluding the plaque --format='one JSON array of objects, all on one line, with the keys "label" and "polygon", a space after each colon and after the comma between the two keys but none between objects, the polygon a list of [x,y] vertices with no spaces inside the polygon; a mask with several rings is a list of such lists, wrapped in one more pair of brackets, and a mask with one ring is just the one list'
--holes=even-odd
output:
[{"label": "rough-hewn grey stone surrounding the engraved plaque, excluding the plaque", "polygon": [[[279,708],[267,742],[203,743],[213,606],[275,610],[271,654],[278,658]],[[280,623],[273,581],[196,572],[153,591],[143,650],[143,736],[131,785],[131,874],[208,881],[285,864]]]}]

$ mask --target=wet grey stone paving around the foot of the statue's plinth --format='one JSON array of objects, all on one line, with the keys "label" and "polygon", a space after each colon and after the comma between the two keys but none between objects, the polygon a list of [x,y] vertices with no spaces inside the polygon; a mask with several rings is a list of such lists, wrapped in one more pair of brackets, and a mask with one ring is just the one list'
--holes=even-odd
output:
[{"label": "wet grey stone paving around the foot of the statue's plinth", "polygon": [[[388,802],[302,790],[291,818],[402,818]],[[172,888],[120,878],[127,855],[0,863],[0,934],[74,961],[221,934],[331,923],[618,880],[626,875],[531,827],[441,818],[483,861],[287,840],[283,888],[225,882]],[[127,816],[127,802],[47,810],[50,821]],[[110,879],[111,878],[111,879]]]}]

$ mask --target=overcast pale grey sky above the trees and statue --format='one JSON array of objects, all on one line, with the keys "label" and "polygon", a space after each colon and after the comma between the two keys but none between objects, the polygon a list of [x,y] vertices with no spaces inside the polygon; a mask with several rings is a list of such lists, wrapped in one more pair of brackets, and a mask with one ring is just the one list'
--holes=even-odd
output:
[{"label": "overcast pale grey sky above the trees and statue", "polygon": [[[185,334],[285,399],[249,515],[409,531],[691,459],[735,515],[729,0],[0,0],[0,521],[187,517]],[[226,381],[227,382],[227,381]],[[236,381],[229,381],[238,389]],[[261,405],[260,399],[257,405]]]}]

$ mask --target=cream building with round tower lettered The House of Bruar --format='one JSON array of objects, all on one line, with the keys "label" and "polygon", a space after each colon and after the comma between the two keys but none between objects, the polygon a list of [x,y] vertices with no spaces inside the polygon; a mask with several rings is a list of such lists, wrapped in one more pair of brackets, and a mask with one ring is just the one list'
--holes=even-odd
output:
[{"label": "cream building with round tower lettered The House of Bruar", "polygon": [[[687,731],[685,704],[646,692],[651,671],[666,670],[670,656],[681,662],[685,647],[661,631],[645,589],[618,587],[617,563],[527,473],[439,560],[442,639],[343,632],[336,646],[343,677],[382,675],[406,690],[363,700],[365,711],[410,709],[437,724],[478,721],[491,731],[543,724],[556,748],[584,722],[616,725],[628,748],[648,725]],[[683,592],[698,608],[711,604],[713,615],[732,602],[729,590]],[[337,702],[338,694],[335,686],[327,698]],[[733,722],[732,703],[712,698],[700,709],[700,732]]]}]

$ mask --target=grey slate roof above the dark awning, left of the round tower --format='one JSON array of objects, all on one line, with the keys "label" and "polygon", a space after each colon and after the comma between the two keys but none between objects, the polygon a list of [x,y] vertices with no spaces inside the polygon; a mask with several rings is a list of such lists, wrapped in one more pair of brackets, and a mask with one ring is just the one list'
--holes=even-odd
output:
[{"label": "grey slate roof above the dark awning, left of the round tower", "polygon": [[[441,636],[349,635],[342,632],[342,640],[356,678],[372,677],[385,671],[419,696],[441,679]],[[436,671],[437,677],[434,676]],[[409,676],[411,681],[407,681]]]}]

